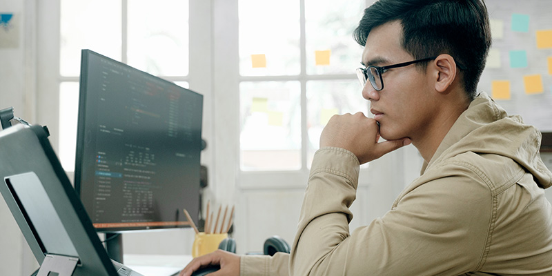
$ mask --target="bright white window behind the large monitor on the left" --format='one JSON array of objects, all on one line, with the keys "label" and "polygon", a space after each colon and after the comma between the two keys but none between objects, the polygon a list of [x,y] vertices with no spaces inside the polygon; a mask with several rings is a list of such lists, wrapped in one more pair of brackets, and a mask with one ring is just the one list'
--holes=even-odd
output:
[{"label": "bright white window behind the large monitor on the left", "polygon": [[188,88],[188,1],[61,0],[59,157],[75,168],[81,49]]}]

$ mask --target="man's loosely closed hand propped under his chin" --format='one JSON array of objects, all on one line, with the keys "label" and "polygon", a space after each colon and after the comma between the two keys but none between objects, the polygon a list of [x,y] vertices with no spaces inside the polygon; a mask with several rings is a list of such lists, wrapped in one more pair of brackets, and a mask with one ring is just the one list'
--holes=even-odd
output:
[{"label": "man's loosely closed hand propped under his chin", "polygon": [[402,138],[378,142],[380,127],[375,119],[364,116],[362,112],[354,115],[334,115],[322,131],[320,148],[333,146],[353,152],[360,164],[378,159],[388,152],[411,143]]}]

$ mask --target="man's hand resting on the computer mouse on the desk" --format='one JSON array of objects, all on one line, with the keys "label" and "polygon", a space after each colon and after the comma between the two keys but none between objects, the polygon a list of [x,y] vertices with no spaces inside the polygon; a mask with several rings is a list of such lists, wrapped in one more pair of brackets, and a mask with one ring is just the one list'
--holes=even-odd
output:
[{"label": "man's hand resting on the computer mouse on the desk", "polygon": [[188,264],[179,276],[191,276],[199,268],[205,266],[219,265],[220,270],[210,273],[212,276],[229,275],[239,276],[239,255],[224,250],[217,250],[213,253],[197,257]]}]

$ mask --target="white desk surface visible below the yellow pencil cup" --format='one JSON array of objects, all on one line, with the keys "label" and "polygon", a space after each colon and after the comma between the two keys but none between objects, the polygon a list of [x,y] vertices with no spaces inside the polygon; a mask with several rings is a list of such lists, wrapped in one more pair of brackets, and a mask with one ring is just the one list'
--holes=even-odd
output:
[{"label": "white desk surface visible below the yellow pencil cup", "polygon": [[191,255],[125,254],[124,264],[144,276],[171,276],[192,261]]}]

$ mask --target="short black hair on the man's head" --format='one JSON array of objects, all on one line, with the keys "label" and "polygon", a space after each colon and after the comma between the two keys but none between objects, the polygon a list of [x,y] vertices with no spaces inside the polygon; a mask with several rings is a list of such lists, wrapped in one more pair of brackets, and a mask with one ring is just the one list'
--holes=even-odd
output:
[{"label": "short black hair on the man's head", "polygon": [[364,10],[353,37],[365,46],[373,28],[391,21],[400,21],[402,47],[415,59],[449,54],[462,64],[464,89],[475,98],[491,47],[484,0],[379,0]]}]

